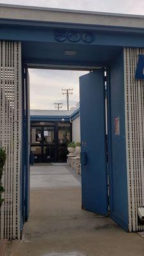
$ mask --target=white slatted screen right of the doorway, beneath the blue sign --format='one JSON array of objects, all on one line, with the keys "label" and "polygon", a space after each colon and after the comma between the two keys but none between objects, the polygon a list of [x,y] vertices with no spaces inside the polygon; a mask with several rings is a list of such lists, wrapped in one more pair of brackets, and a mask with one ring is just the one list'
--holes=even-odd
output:
[{"label": "white slatted screen right of the doorway, beneath the blue sign", "polygon": [[134,79],[138,54],[144,49],[124,49],[129,231],[144,228],[138,221],[138,207],[144,206],[144,81]]}]

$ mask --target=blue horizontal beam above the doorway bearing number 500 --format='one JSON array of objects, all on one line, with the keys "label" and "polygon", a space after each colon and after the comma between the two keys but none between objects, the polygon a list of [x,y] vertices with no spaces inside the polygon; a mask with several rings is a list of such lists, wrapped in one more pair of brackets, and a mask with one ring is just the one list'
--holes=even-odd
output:
[{"label": "blue horizontal beam above the doorway bearing number 500", "polygon": [[[12,26],[12,25],[4,25],[1,24],[0,28],[0,40],[19,40],[21,42],[51,42],[56,43],[54,39],[55,29],[47,28],[45,26]],[[59,24],[60,26],[60,24]],[[62,25],[61,25],[62,26]],[[65,25],[66,26],[66,25]],[[82,25],[81,25],[82,26]],[[63,27],[63,26],[62,26]],[[83,31],[77,29],[79,25],[73,25],[73,29],[67,29],[66,33],[70,31],[74,31],[74,29],[81,35],[83,31],[86,31],[86,26],[83,25]],[[104,30],[101,31],[94,29],[95,27],[91,26],[91,29],[88,31],[92,31],[95,36],[95,40],[91,43],[91,45],[113,45],[113,46],[121,46],[121,47],[143,47],[144,46],[144,32],[143,29],[133,29],[131,33],[127,33],[127,29],[120,28],[120,31],[111,31]],[[62,42],[63,44],[86,44],[83,42],[82,38],[79,42],[72,43],[68,39]],[[59,43],[60,44],[60,43]]]}]

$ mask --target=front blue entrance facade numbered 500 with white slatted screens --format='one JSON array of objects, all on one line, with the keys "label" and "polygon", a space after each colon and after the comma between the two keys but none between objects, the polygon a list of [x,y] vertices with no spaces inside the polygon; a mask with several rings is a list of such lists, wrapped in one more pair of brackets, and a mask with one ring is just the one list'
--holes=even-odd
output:
[{"label": "front blue entrance facade numbered 500 with white slatted screens", "polygon": [[1,239],[20,239],[29,216],[28,68],[36,67],[90,71],[80,77],[83,209],[144,230],[144,17],[0,4],[0,24]]}]

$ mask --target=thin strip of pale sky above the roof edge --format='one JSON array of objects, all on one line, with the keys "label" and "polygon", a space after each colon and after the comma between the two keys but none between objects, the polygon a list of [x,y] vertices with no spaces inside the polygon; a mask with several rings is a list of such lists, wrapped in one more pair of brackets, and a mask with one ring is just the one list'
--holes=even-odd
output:
[{"label": "thin strip of pale sky above the roof edge", "polygon": [[95,12],[144,14],[143,0],[6,0],[1,1],[1,3],[89,10]]}]

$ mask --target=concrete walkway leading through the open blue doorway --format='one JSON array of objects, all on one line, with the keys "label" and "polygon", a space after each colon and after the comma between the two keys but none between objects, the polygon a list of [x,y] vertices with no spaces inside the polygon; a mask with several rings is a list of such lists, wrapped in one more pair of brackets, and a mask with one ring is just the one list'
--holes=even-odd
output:
[{"label": "concrete walkway leading through the open blue doorway", "polygon": [[81,210],[81,186],[67,166],[31,168],[31,212],[10,256],[143,256],[144,239]]}]

